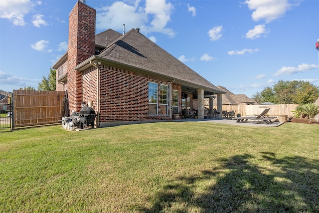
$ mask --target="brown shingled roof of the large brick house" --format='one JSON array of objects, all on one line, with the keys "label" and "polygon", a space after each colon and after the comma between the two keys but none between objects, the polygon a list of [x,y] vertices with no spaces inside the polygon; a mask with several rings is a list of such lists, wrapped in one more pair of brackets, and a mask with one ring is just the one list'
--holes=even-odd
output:
[{"label": "brown shingled roof of the large brick house", "polygon": [[[120,34],[114,33],[113,30],[99,33],[98,42],[100,45],[103,45],[103,37],[109,37],[108,33],[110,32],[113,37]],[[224,93],[136,29],[131,29],[116,38],[98,55],[83,61],[75,69],[82,71],[88,68],[90,60],[113,63],[120,67],[159,76],[169,81],[174,79],[175,83],[186,87],[203,88],[205,92]]]}]

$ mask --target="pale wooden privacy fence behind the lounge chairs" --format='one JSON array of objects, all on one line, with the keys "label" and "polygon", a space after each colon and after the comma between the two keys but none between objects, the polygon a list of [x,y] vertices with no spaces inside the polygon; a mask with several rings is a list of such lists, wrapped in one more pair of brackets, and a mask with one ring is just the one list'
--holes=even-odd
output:
[{"label": "pale wooden privacy fence behind the lounge chairs", "polygon": [[270,108],[269,115],[279,116],[287,115],[293,117],[298,104],[265,104],[265,105],[223,105],[222,110],[236,111],[236,114],[240,113],[241,116],[250,116],[254,114],[260,114],[265,108]]}]

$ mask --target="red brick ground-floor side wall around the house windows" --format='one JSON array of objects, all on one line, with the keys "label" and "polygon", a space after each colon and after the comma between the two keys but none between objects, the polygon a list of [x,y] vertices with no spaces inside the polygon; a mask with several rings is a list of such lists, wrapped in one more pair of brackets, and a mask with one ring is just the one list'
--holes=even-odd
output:
[{"label": "red brick ground-floor side wall around the house windows", "polygon": [[[83,72],[83,101],[97,106],[97,70]],[[149,115],[149,81],[168,86],[167,80],[107,65],[100,66],[100,122],[167,120],[169,115]],[[172,84],[179,91],[181,85]],[[160,93],[159,96],[160,98]],[[181,107],[181,99],[179,100]],[[160,108],[160,107],[158,107]],[[159,112],[160,113],[160,112]]]}]

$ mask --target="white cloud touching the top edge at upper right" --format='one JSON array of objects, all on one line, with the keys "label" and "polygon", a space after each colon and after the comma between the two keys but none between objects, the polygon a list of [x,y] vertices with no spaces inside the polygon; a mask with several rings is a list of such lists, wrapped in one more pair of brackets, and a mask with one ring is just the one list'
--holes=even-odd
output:
[{"label": "white cloud touching the top edge at upper right", "polygon": [[254,10],[251,17],[254,21],[265,20],[269,23],[282,17],[292,7],[289,0],[246,0],[248,8]]}]

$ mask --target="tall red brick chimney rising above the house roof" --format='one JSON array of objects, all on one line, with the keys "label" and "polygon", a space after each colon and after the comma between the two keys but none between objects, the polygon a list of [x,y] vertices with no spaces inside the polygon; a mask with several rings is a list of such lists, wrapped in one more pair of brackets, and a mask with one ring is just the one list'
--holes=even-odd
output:
[{"label": "tall red brick chimney rising above the house roof", "polygon": [[82,73],[73,68],[95,54],[96,10],[79,0],[69,15],[68,82],[70,112],[81,110]]}]

